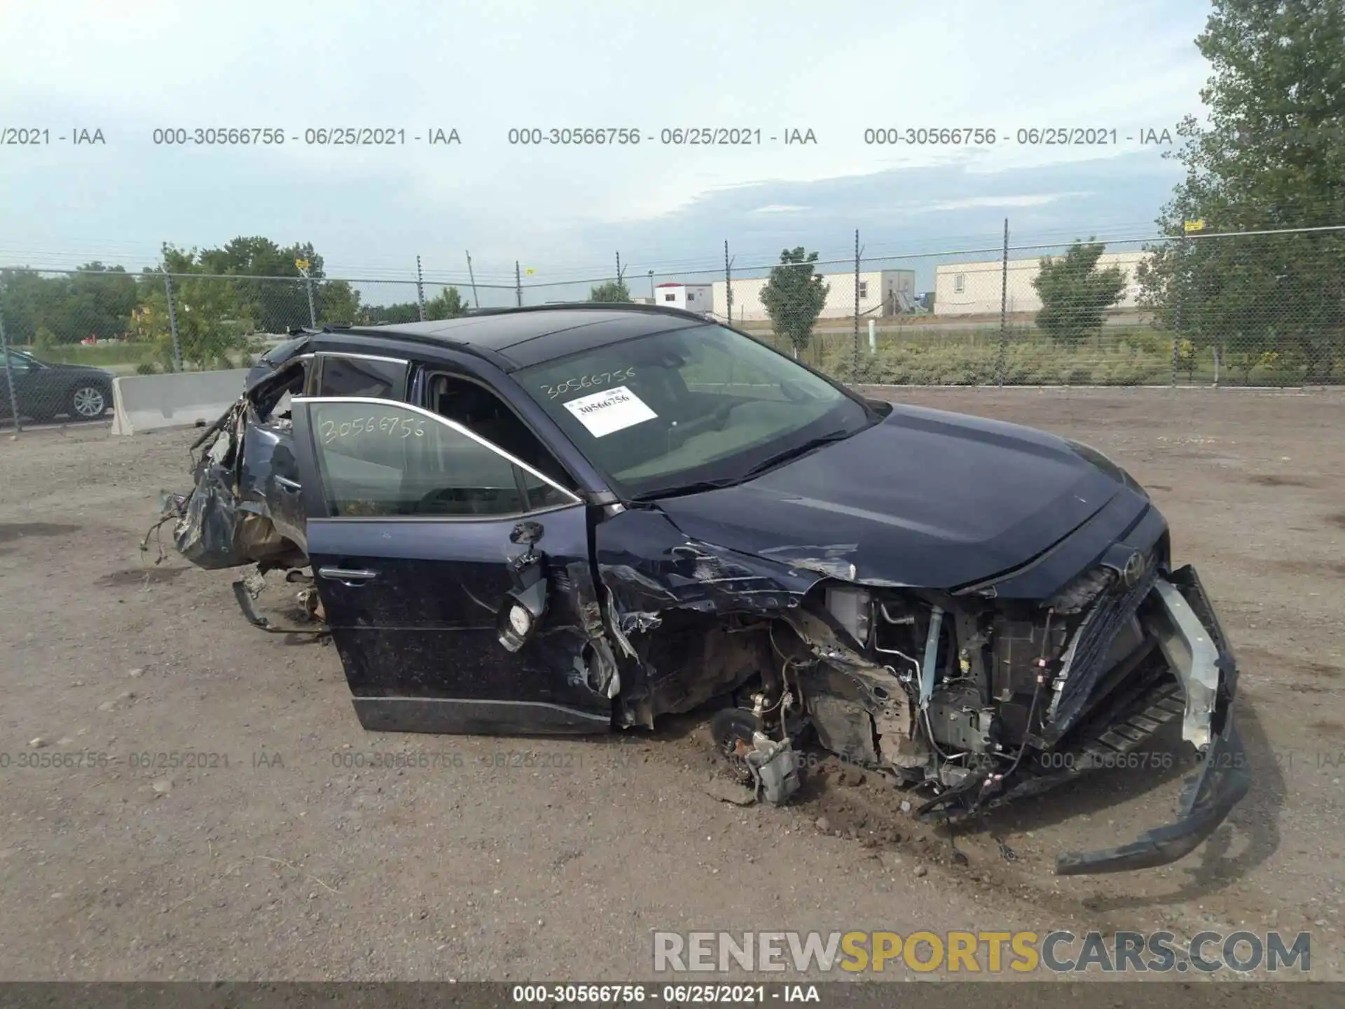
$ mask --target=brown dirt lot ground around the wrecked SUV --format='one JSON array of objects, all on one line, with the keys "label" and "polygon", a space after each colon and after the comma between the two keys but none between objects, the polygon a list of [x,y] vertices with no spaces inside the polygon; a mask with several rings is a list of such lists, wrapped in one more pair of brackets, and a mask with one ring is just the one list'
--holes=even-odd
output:
[{"label": "brown dirt lot ground around the wrecked SUV", "polygon": [[[1185,861],[1050,868],[1167,822],[1185,765],[950,839],[872,779],[720,802],[695,718],[620,743],[366,733],[331,647],[245,624],[227,572],[140,553],[194,432],[34,431],[0,435],[0,978],[628,979],[656,928],[1241,927],[1310,931],[1311,977],[1345,978],[1345,396],[890,394],[1083,439],[1167,515],[1255,761]],[[430,765],[358,765],[375,752]],[[153,753],[207,765],[132,765]]]}]

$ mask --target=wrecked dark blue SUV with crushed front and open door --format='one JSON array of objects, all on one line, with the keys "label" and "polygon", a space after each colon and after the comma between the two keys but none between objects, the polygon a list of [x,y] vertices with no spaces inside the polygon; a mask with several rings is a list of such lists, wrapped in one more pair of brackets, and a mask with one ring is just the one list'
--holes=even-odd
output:
[{"label": "wrecked dark blue SUV with crushed front and open door", "polygon": [[1204,756],[1174,823],[1060,873],[1171,862],[1248,787],[1236,667],[1145,491],[1087,445],[865,400],[699,315],[547,305],[297,334],[196,443],[178,550],[301,583],[362,725],[652,726],[712,700],[760,798],[792,741],[958,818]]}]

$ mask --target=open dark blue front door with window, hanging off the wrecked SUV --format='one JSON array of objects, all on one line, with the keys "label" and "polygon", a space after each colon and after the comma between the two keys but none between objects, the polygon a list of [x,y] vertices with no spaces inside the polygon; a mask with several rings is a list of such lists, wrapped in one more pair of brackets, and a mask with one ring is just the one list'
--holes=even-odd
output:
[{"label": "open dark blue front door with window, hanging off the wrecked SUV", "polygon": [[[611,728],[585,613],[586,506],[460,424],[391,400],[293,400],[308,557],[367,729],[586,733]],[[514,587],[511,541],[535,549],[551,591],[510,651],[496,618]],[[516,537],[515,537],[516,538]]]}]

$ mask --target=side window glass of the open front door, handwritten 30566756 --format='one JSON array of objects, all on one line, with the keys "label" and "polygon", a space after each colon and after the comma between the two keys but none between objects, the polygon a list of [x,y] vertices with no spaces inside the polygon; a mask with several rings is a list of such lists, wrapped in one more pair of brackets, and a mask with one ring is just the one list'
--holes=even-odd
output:
[{"label": "side window glass of the open front door, handwritten 30566756", "polygon": [[335,517],[518,515],[570,499],[436,417],[394,402],[312,402]]}]

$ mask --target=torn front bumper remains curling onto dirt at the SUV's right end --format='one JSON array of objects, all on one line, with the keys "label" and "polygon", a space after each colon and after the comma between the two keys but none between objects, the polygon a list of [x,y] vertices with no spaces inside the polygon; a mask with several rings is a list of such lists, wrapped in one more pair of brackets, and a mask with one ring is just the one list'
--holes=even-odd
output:
[{"label": "torn front bumper remains curling onto dirt at the SUV's right end", "polygon": [[[1151,869],[1190,854],[1223,823],[1251,787],[1247,751],[1233,724],[1237,666],[1194,568],[1159,578],[1158,647],[1181,685],[1182,739],[1202,751],[1198,771],[1182,791],[1177,819],[1135,841],[1056,858],[1057,876],[1084,876]],[[1177,714],[1169,698],[1169,717]],[[1155,713],[1163,710],[1158,702]],[[1150,721],[1139,716],[1142,721]]]}]

